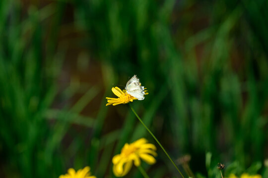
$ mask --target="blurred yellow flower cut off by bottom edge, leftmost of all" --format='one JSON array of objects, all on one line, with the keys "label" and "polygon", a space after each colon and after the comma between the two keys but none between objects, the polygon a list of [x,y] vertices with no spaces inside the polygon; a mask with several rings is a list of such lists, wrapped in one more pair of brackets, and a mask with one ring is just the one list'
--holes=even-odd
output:
[{"label": "blurred yellow flower cut off by bottom edge, leftmost of all", "polygon": [[68,169],[66,175],[61,175],[59,178],[96,178],[95,176],[90,176],[90,167],[87,166],[84,169],[78,170],[76,173],[74,169]]}]

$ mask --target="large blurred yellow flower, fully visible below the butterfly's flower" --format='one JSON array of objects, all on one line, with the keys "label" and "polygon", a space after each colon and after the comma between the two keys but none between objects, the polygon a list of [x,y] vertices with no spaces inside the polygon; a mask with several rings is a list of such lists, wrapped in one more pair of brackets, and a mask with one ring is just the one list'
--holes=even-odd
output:
[{"label": "large blurred yellow flower, fully visible below the butterfly's flower", "polygon": [[[115,176],[123,177],[135,166],[140,166],[140,158],[148,164],[156,162],[153,156],[157,156],[154,144],[148,143],[145,138],[140,138],[131,144],[126,143],[121,153],[113,157],[113,171]],[[153,156],[152,156],[153,155]]]}]

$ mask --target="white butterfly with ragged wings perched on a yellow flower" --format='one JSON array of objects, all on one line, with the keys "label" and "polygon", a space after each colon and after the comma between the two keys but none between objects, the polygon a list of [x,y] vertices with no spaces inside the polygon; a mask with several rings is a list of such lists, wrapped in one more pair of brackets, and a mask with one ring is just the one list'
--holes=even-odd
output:
[{"label": "white butterfly with ragged wings perched on a yellow flower", "polygon": [[127,83],[125,89],[127,92],[137,98],[138,100],[144,99],[144,87],[141,86],[139,79],[134,75]]}]

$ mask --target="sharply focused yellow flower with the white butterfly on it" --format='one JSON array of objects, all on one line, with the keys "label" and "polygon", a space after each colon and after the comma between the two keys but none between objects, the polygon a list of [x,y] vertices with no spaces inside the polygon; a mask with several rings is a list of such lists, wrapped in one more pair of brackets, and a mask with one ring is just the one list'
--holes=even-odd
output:
[{"label": "sharply focused yellow flower with the white butterfly on it", "polygon": [[135,98],[134,96],[126,93],[126,90],[124,89],[123,91],[121,89],[119,89],[118,87],[113,87],[112,88],[112,91],[115,95],[118,96],[118,98],[110,98],[110,97],[106,97],[107,100],[107,104],[106,106],[108,105],[118,105],[118,104],[127,104],[129,102],[133,102],[133,100],[137,99]]}]

